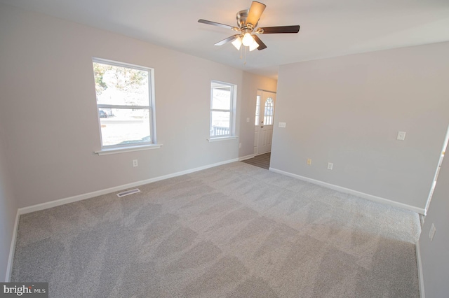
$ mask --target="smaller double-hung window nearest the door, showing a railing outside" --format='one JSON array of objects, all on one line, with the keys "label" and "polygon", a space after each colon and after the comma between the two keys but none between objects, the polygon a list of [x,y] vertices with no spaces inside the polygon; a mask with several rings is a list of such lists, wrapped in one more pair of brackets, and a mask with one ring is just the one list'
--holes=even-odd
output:
[{"label": "smaller double-hung window nearest the door, showing a railing outside", "polygon": [[234,136],[234,99],[236,85],[210,83],[210,137]]}]

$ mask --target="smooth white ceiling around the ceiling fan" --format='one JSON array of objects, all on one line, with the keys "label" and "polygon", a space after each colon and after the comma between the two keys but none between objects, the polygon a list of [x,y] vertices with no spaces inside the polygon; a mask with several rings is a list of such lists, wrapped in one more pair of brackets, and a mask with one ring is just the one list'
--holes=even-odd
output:
[{"label": "smooth white ceiling around the ceiling fan", "polygon": [[0,0],[272,78],[281,64],[449,41],[449,0],[260,1],[259,27],[299,24],[300,33],[260,35],[267,48],[243,64],[231,43],[214,45],[234,31],[197,21],[235,26],[250,0]]}]

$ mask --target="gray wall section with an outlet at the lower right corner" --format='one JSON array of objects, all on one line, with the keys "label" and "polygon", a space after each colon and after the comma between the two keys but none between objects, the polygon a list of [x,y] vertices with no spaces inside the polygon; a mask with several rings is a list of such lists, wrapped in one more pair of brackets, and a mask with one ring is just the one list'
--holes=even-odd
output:
[{"label": "gray wall section with an outlet at the lower right corner", "polygon": [[[431,225],[436,227],[433,241]],[[449,157],[446,154],[438,175],[434,196],[420,236],[424,294],[427,298],[448,297],[449,293]]]}]

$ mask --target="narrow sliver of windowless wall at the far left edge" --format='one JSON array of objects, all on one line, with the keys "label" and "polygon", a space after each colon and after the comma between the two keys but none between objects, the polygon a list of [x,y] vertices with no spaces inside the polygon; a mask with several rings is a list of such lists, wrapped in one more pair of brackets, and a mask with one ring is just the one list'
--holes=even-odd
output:
[{"label": "narrow sliver of windowless wall at the far left edge", "polygon": [[0,104],[0,281],[8,280],[6,268],[13,240],[13,227],[18,203],[14,199],[11,175],[9,172],[6,149],[8,142],[5,136],[3,119],[4,109]]}]

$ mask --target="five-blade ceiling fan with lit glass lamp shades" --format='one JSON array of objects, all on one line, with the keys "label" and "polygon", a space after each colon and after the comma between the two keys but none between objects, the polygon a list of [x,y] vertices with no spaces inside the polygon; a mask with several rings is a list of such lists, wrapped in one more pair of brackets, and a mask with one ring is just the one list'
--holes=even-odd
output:
[{"label": "five-blade ceiling fan with lit glass lamp shades", "polygon": [[240,10],[237,13],[236,17],[238,27],[202,19],[198,20],[198,22],[232,29],[234,31],[239,31],[239,34],[229,36],[228,38],[225,38],[222,41],[215,43],[215,45],[224,45],[225,43],[232,42],[232,45],[234,45],[234,47],[237,50],[240,50],[242,44],[249,47],[250,51],[255,50],[256,48],[257,50],[263,50],[264,48],[267,48],[267,45],[265,45],[260,40],[259,36],[253,33],[278,34],[278,33],[298,33],[300,31],[299,25],[257,28],[257,23],[259,22],[260,16],[264,12],[265,7],[267,7],[265,4],[253,1],[249,9]]}]

